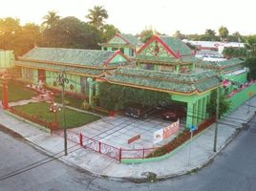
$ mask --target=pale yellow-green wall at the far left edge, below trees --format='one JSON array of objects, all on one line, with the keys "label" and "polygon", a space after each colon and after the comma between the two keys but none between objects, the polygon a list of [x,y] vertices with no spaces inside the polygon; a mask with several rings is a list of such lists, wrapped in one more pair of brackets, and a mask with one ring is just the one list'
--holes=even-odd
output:
[{"label": "pale yellow-green wall at the far left edge, below trees", "polygon": [[14,67],[13,51],[0,51],[0,69],[8,69]]}]

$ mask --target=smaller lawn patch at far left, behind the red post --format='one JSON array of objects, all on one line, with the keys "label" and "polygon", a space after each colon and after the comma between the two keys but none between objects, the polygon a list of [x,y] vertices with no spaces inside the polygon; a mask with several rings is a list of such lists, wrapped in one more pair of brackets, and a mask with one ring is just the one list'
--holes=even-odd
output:
[{"label": "smaller lawn patch at far left, behind the red post", "polygon": [[[35,92],[24,87],[24,84],[11,81],[8,86],[9,102],[15,102],[23,99],[30,99],[35,96]],[[3,98],[3,88],[0,86],[0,99]]]}]

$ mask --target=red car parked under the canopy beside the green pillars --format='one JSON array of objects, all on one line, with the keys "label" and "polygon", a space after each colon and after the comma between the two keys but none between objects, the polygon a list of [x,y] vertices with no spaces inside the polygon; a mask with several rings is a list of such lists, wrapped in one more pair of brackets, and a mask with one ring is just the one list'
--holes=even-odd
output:
[{"label": "red car parked under the canopy beside the green pillars", "polygon": [[178,120],[186,116],[186,108],[181,105],[157,106],[160,116],[164,119]]}]

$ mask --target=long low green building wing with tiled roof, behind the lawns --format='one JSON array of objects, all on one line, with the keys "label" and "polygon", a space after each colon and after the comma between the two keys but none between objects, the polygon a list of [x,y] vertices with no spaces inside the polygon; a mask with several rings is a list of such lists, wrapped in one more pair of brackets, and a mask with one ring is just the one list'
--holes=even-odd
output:
[{"label": "long low green building wing with tiled roof, behind the lawns", "polygon": [[[97,78],[127,66],[130,59],[120,51],[97,51],[61,48],[34,48],[15,61],[21,68],[21,80],[34,84],[39,81],[48,87],[58,88],[55,79],[62,71],[69,84],[66,91],[92,96],[97,94]],[[95,86],[94,86],[95,85]]]}]

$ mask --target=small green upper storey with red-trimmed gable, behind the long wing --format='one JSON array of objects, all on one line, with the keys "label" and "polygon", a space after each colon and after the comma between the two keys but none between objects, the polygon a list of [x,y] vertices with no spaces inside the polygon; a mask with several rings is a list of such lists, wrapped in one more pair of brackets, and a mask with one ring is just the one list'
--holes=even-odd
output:
[{"label": "small green upper storey with red-trimmed gable, behind the long wing", "polygon": [[102,51],[117,51],[135,57],[139,48],[143,45],[139,39],[132,34],[117,33],[106,43],[99,44]]}]

